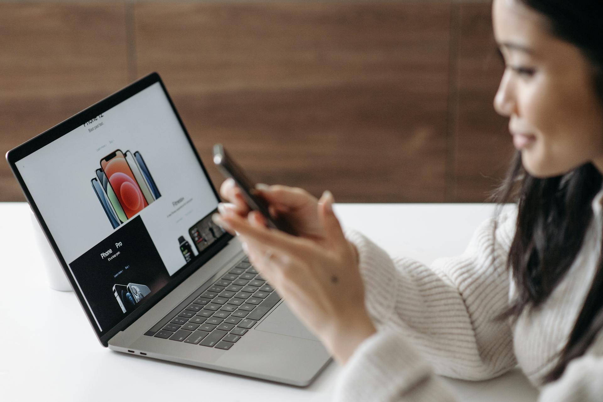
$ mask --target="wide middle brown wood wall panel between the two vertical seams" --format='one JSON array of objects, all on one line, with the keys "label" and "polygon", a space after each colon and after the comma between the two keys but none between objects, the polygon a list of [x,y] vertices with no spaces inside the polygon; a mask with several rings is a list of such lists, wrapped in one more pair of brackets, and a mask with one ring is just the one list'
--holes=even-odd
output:
[{"label": "wide middle brown wood wall panel between the two vertical seams", "polygon": [[205,161],[219,141],[257,181],[444,200],[449,4],[136,4],[134,20],[138,75],[163,76]]}]

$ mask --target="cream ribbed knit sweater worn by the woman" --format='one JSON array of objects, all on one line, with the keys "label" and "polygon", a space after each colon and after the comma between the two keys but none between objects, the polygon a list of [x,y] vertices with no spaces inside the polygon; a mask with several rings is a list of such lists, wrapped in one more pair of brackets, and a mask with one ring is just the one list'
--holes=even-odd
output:
[{"label": "cream ribbed knit sweater worn by the woman", "polygon": [[[515,288],[506,269],[517,211],[474,233],[463,255],[431,266],[390,258],[346,230],[358,247],[368,312],[377,333],[362,342],[338,378],[335,400],[452,401],[434,374],[484,380],[519,367],[536,386],[557,362],[595,275],[601,247],[601,199],[581,252],[537,311],[516,323],[494,321]],[[603,334],[572,360],[561,379],[541,387],[540,401],[603,401]]]}]

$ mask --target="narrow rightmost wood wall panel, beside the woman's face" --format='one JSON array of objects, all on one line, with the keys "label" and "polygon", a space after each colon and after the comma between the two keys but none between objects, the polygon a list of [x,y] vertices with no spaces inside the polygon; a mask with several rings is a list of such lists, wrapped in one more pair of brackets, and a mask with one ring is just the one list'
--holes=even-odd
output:
[{"label": "narrow rightmost wood wall panel, beside the woman's face", "polygon": [[456,53],[455,202],[483,202],[513,155],[508,119],[496,114],[494,94],[504,65],[496,52],[490,4],[460,4]]}]

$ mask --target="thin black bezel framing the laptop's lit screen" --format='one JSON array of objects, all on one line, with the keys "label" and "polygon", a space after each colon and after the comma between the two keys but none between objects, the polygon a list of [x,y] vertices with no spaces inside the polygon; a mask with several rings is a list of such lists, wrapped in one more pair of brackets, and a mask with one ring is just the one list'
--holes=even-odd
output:
[{"label": "thin black bezel framing the laptop's lit screen", "polygon": [[[84,312],[86,312],[86,317],[90,321],[90,325],[93,327],[99,342],[101,342],[101,344],[104,347],[107,347],[109,339],[111,339],[113,336],[115,336],[116,333],[118,333],[119,331],[130,326],[131,323],[133,323],[138,318],[140,318],[142,315],[144,315],[145,312],[147,312],[154,305],[156,305],[157,302],[159,302],[163,297],[165,297],[166,294],[168,294],[170,291],[172,291],[174,288],[176,288],[176,286],[180,285],[180,283],[182,283],[187,277],[189,277],[192,273],[194,273],[199,267],[201,267],[201,265],[203,265],[205,262],[209,261],[209,259],[211,259],[221,249],[223,249],[226,246],[226,244],[228,244],[229,241],[232,239],[232,235],[225,232],[221,237],[218,238],[218,240],[216,240],[213,244],[211,244],[209,247],[207,247],[207,249],[204,250],[203,253],[200,253],[199,255],[195,256],[195,258],[188,265],[185,265],[184,267],[180,268],[180,270],[176,271],[170,277],[169,282],[165,286],[163,286],[163,288],[161,288],[159,291],[157,291],[155,294],[153,294],[151,297],[149,297],[148,300],[145,301],[145,303],[143,303],[138,308],[136,308],[133,312],[128,314],[127,317],[124,318],[124,320],[120,321],[112,329],[109,329],[106,332],[101,333],[98,329],[98,326],[96,326],[96,323],[95,323],[93,315],[92,315],[92,311],[88,307],[86,300],[84,300],[83,294],[81,294],[80,289],[77,286],[77,282],[75,281],[74,277],[71,275],[71,271],[68,268],[68,264],[65,261],[65,259],[63,258],[62,253],[58,249],[58,246],[55,243],[54,238],[52,237],[52,233],[48,229],[48,226],[46,226],[46,223],[45,223],[42,215],[40,214],[40,210],[37,208],[36,202],[34,202],[33,197],[31,196],[31,193],[28,190],[27,185],[25,184],[25,181],[21,176],[21,173],[19,173],[19,170],[18,170],[16,164],[18,161],[25,158],[25,156],[28,156],[31,153],[36,152],[37,150],[48,145],[52,141],[55,141],[58,138],[62,137],[63,135],[66,135],[69,132],[73,131],[74,129],[78,128],[78,126],[81,126],[85,122],[92,120],[95,116],[99,116],[99,114],[106,112],[110,108],[115,107],[116,105],[120,104],[124,100],[134,96],[135,94],[139,93],[140,91],[144,90],[145,88],[150,87],[153,84],[156,84],[157,82],[159,82],[159,84],[161,85],[163,93],[165,94],[166,98],[168,99],[169,105],[171,106],[172,111],[174,112],[175,116],[177,117],[178,123],[180,123],[180,127],[182,128],[182,131],[185,134],[186,139],[188,140],[195,156],[197,157],[197,161],[198,161],[201,169],[203,170],[203,173],[206,176],[207,181],[210,184],[210,187],[212,188],[213,194],[216,197],[216,207],[217,207],[217,204],[219,202],[218,191],[216,191],[216,188],[213,185],[203,162],[201,161],[201,158],[197,152],[197,149],[195,148],[195,146],[191,140],[191,136],[188,134],[188,131],[186,130],[185,125],[182,122],[182,119],[180,118],[180,115],[178,114],[178,111],[176,110],[176,108],[174,106],[174,102],[172,102],[172,99],[169,96],[168,91],[166,90],[162,79],[160,78],[159,74],[157,74],[156,72],[150,73],[149,75],[147,75],[143,78],[140,78],[139,80],[133,82],[132,84],[128,85],[127,87],[122,88],[121,90],[117,91],[116,93],[113,93],[110,96],[107,96],[105,99],[100,100],[99,102],[96,102],[96,104],[84,109],[83,111],[75,114],[72,117],[69,117],[69,119],[66,119],[62,123],[58,123],[54,127],[42,132],[42,134],[39,134],[36,137],[31,138],[31,140],[26,141],[25,143],[15,147],[14,149],[11,149],[6,154],[6,159],[8,161],[8,164],[10,165],[10,168],[13,171],[15,178],[19,182],[19,185],[21,185],[21,190],[24,192],[25,198],[27,199],[27,202],[31,206],[31,210],[33,211],[34,215],[36,215],[36,218],[37,218],[38,222],[40,223],[40,227],[42,227],[42,230],[43,230],[44,234],[46,235],[46,238],[48,239],[48,242],[51,245],[52,250],[54,251],[55,255],[57,256],[57,259],[60,262],[61,267],[63,268],[63,271],[65,272],[65,275],[67,276],[69,282],[71,283],[72,288],[74,289],[75,294],[78,297],[78,300],[80,301],[80,305],[84,309]],[[210,212],[210,213],[213,213],[213,212]]]}]

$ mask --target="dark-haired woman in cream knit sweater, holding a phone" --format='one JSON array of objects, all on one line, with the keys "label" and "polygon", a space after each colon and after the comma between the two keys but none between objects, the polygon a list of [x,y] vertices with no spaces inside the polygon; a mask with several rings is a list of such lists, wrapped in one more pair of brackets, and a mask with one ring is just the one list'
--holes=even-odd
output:
[{"label": "dark-haired woman in cream knit sweater, holding a phone", "polygon": [[601,0],[494,0],[494,107],[517,148],[499,201],[517,208],[457,258],[392,260],[343,232],[330,193],[260,186],[292,237],[224,182],[216,223],[344,365],[336,400],[451,400],[434,373],[481,380],[518,363],[542,401],[603,399],[602,21]]}]

